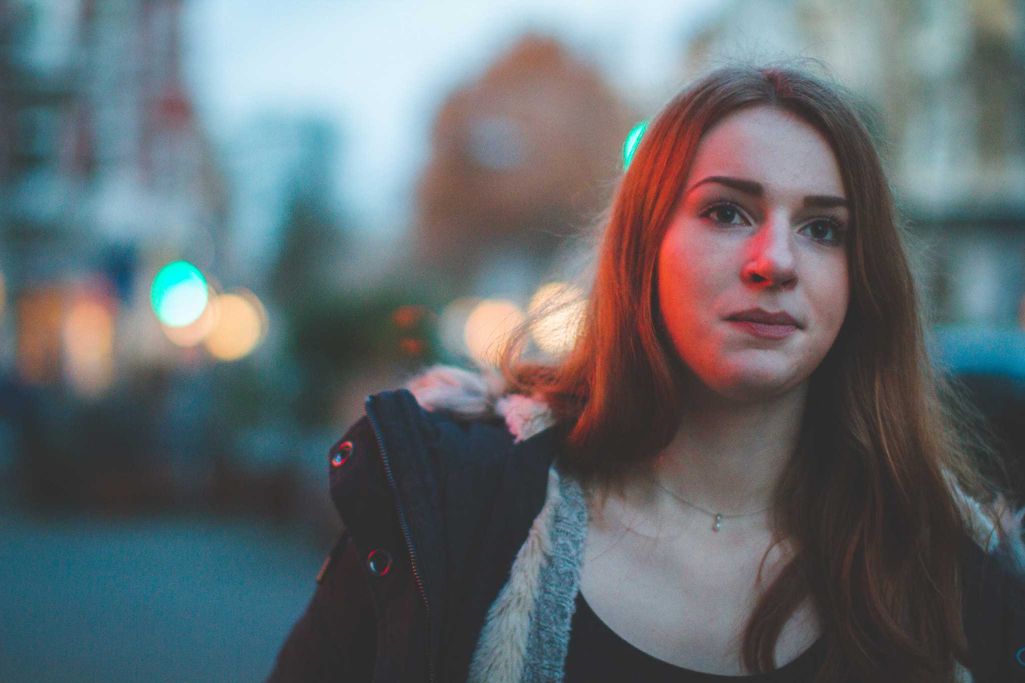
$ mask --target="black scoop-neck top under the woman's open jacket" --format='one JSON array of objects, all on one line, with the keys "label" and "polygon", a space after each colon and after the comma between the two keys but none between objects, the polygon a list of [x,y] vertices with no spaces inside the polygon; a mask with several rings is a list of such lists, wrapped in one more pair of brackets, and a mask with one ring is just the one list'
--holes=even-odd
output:
[{"label": "black scoop-neck top under the woman's open jacket", "polygon": [[565,683],[810,683],[825,657],[825,640],[819,638],[797,658],[776,671],[754,676],[721,676],[675,667],[643,652],[620,638],[591,611],[577,594],[570,626]]}]

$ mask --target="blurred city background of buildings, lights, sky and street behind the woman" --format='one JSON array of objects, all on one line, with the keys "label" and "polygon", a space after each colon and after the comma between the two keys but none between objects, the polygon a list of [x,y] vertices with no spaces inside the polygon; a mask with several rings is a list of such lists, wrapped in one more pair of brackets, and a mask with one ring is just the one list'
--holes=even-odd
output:
[{"label": "blurred city background of buildings, lights, sky and street behind the woman", "polygon": [[[1023,22],[0,0],[0,680],[261,680],[338,532],[326,452],[365,396],[487,364],[575,296],[627,133],[730,57],[819,59],[879,113],[937,358],[1021,486]],[[540,352],[572,339],[560,310]]]}]

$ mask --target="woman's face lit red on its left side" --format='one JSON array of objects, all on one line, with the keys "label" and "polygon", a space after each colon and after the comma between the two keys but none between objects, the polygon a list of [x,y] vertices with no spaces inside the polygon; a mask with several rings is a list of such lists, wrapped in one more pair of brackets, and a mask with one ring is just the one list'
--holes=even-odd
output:
[{"label": "woman's face lit red on its left side", "polygon": [[846,200],[829,144],[792,114],[742,110],[704,134],[657,282],[698,380],[746,402],[808,379],[847,312]]}]

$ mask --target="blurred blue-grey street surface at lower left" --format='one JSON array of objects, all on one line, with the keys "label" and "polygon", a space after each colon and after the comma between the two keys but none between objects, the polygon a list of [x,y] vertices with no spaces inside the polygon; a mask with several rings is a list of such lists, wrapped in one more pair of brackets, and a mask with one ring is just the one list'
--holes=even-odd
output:
[{"label": "blurred blue-grey street surface at lower left", "polygon": [[4,683],[259,681],[328,548],[245,520],[0,518]]}]

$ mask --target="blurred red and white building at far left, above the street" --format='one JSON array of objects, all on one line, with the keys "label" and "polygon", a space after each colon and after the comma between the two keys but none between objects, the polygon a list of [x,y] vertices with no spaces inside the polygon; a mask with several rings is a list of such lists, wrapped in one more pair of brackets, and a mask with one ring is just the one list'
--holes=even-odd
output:
[{"label": "blurred red and white building at far left, above the street", "polygon": [[[29,383],[89,376],[95,393],[114,368],[166,355],[144,275],[217,258],[227,193],[181,82],[181,4],[0,0],[0,268],[13,328],[35,340],[19,344]],[[79,305],[106,338],[69,333]],[[28,351],[36,337],[56,350]],[[106,378],[76,372],[90,355]]]}]

